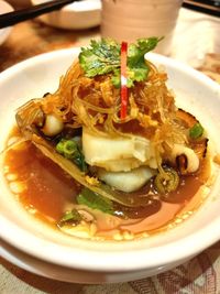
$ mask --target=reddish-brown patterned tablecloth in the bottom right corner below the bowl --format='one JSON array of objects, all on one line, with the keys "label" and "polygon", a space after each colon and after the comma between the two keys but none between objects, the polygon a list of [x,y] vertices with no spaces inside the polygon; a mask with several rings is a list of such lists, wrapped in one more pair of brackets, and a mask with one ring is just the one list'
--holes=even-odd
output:
[{"label": "reddish-brown patterned tablecloth in the bottom right corner below the bowl", "polygon": [[174,270],[130,285],[140,294],[220,293],[220,242]]}]

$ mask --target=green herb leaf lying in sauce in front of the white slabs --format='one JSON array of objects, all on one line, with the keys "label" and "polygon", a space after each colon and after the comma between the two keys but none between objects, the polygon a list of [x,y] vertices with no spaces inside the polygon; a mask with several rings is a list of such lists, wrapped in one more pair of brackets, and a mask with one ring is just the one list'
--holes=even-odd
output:
[{"label": "green herb leaf lying in sauce in front of the white slabs", "polygon": [[77,203],[86,205],[92,209],[98,209],[103,213],[113,215],[113,203],[101,195],[88,189],[82,188],[80,194],[77,196]]}]

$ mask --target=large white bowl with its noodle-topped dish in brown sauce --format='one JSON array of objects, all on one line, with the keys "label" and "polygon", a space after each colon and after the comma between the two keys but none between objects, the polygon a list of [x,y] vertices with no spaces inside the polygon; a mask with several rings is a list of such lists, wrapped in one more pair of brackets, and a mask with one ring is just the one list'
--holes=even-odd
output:
[{"label": "large white bowl with its noodle-topped dish in brown sauce", "polygon": [[123,96],[121,64],[88,72],[91,47],[1,75],[1,238],[102,281],[135,280],[219,239],[219,87],[147,54]]}]

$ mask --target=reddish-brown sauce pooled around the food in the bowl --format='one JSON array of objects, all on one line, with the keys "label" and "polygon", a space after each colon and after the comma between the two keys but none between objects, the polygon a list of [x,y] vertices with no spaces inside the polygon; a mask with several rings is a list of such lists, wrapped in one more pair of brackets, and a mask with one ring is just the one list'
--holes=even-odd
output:
[{"label": "reddish-brown sauce pooled around the food in the bowl", "polygon": [[[16,134],[16,131],[12,134]],[[9,174],[16,175],[16,181],[25,184],[25,189],[19,194],[21,204],[28,210],[34,208],[36,216],[42,219],[50,219],[51,224],[56,224],[65,213],[67,204],[75,203],[80,185],[30,142],[23,144],[25,144],[24,148],[11,149],[7,152],[4,165],[8,166]],[[157,208],[148,207],[148,216],[139,219],[140,224],[136,220],[120,219],[116,228],[130,230],[132,233],[154,232],[174,221],[206,183],[209,174],[209,165],[206,162],[208,161],[204,161],[200,172],[196,175],[182,176],[177,190],[169,194],[170,200],[157,199],[160,202]],[[205,173],[204,170],[207,172]],[[198,198],[198,202],[201,199]],[[97,227],[102,236],[112,229],[101,221]]]}]

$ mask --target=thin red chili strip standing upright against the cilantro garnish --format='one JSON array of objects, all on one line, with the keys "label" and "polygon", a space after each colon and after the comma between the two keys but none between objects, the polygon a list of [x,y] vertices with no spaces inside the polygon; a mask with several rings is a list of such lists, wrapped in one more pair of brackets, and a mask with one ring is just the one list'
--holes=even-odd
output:
[{"label": "thin red chili strip standing upright against the cilantro garnish", "polygon": [[121,119],[127,117],[128,108],[128,87],[127,87],[127,57],[128,57],[128,43],[121,43]]}]

